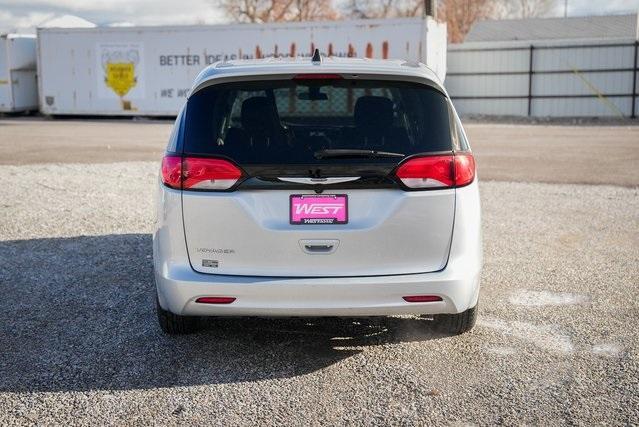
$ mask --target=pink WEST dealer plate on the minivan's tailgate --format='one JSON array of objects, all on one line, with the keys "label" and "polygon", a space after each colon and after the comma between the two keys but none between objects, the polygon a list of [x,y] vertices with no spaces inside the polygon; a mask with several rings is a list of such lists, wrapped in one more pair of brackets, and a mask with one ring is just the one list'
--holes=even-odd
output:
[{"label": "pink WEST dealer plate on the minivan's tailgate", "polygon": [[346,194],[291,195],[291,224],[346,224]]}]

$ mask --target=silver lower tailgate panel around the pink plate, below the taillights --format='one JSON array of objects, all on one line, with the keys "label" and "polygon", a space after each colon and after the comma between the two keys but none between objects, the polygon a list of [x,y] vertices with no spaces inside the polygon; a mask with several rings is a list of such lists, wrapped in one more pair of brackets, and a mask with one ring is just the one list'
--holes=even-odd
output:
[{"label": "silver lower tailgate panel around the pink plate, below the taillights", "polygon": [[[375,276],[437,271],[448,259],[455,190],[340,190],[348,224],[289,223],[299,190],[185,191],[186,243],[200,273],[253,276]],[[328,191],[326,193],[329,193]],[[336,240],[326,256],[300,249],[302,240]],[[318,252],[321,254],[321,252]],[[204,260],[217,261],[205,267]]]}]

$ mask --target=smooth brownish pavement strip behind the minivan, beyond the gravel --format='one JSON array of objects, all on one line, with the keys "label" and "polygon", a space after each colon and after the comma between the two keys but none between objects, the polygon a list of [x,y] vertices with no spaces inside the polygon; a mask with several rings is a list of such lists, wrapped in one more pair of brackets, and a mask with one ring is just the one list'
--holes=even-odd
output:
[{"label": "smooth brownish pavement strip behind the minivan, beyond the gravel", "polygon": [[[168,120],[0,120],[0,165],[157,161]],[[639,185],[639,126],[466,124],[482,180]]]}]

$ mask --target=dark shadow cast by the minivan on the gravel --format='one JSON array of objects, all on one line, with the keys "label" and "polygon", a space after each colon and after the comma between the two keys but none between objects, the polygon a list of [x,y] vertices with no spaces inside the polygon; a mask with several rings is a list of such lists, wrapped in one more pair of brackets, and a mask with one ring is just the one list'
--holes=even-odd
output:
[{"label": "dark shadow cast by the minivan on the gravel", "polygon": [[207,319],[166,336],[151,236],[0,242],[0,391],[127,390],[289,378],[367,346],[441,338],[420,318]]}]

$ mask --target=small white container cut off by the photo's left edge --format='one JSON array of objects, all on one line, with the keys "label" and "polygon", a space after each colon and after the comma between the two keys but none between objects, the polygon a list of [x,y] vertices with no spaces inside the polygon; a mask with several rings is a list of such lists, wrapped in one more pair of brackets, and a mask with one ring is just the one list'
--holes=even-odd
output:
[{"label": "small white container cut off by the photo's left edge", "polygon": [[35,36],[0,35],[0,112],[37,110]]}]

